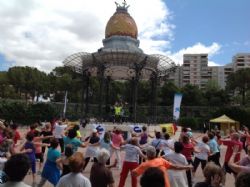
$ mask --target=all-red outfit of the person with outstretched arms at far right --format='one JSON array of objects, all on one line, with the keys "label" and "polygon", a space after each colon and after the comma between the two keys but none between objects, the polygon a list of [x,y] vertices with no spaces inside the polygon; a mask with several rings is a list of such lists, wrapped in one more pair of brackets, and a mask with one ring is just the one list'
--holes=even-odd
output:
[{"label": "all-red outfit of the person with outstretched arms at far right", "polygon": [[221,142],[227,146],[227,151],[225,155],[225,162],[228,162],[233,154],[233,148],[234,146],[238,146],[238,154],[235,156],[234,162],[238,162],[240,160],[240,152],[242,150],[242,142],[240,141],[235,141],[235,140],[221,140]]}]

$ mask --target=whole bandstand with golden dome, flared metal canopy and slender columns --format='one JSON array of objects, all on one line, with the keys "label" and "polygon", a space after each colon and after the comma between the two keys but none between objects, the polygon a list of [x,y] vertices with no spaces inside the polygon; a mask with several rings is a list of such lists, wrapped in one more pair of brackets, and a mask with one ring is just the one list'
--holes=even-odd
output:
[{"label": "whole bandstand with golden dome, flared metal canopy and slender columns", "polygon": [[[85,77],[85,114],[88,113],[89,77],[97,76],[100,82],[99,114],[102,116],[104,82],[111,80],[131,80],[133,82],[133,121],[136,122],[137,92],[140,80],[151,81],[152,118],[156,115],[157,81],[175,69],[175,63],[163,55],[148,55],[139,48],[136,22],[128,13],[128,5],[116,3],[116,12],[105,28],[103,47],[94,53],[80,52],[67,57],[63,63]],[[106,89],[108,92],[108,89]],[[107,95],[108,93],[106,93]],[[108,97],[106,97],[108,98]],[[106,104],[108,101],[105,102]]]}]

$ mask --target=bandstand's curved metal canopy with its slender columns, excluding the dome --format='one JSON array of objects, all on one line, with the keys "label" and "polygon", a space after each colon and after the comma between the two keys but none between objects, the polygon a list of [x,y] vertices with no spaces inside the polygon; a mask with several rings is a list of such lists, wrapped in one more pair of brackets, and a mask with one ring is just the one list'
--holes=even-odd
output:
[{"label": "bandstand's curved metal canopy with its slender columns, excluding the dome", "polygon": [[[99,114],[102,114],[102,94],[105,77],[114,80],[128,79],[133,81],[133,119],[136,122],[136,107],[138,95],[139,80],[145,79],[151,81],[151,114],[152,122],[156,118],[156,88],[158,81],[165,80],[165,78],[176,69],[176,65],[169,57],[153,54],[147,55],[144,53],[119,50],[119,49],[105,49],[99,50],[95,53],[79,52],[67,57],[63,64],[71,67],[78,73],[88,72],[90,76],[99,77],[100,93],[99,93]],[[116,69],[120,67],[124,71],[124,75],[114,75]],[[125,67],[125,68],[124,68]],[[107,72],[106,72],[107,71]],[[116,72],[117,73],[117,72]],[[107,85],[109,86],[109,85]],[[88,91],[87,91],[88,92]],[[88,93],[86,93],[88,94]],[[107,102],[106,102],[107,105]],[[88,103],[86,104],[85,114],[88,112]],[[87,115],[87,114],[86,114]]]}]

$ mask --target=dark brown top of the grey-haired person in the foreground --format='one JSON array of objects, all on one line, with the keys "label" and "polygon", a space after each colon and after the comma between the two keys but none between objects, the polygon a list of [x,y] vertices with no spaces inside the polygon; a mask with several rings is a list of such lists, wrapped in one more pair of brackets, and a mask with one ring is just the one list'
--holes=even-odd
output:
[{"label": "dark brown top of the grey-haired person in the foreground", "polygon": [[90,182],[92,187],[107,187],[114,183],[113,174],[103,164],[94,163],[90,171]]}]

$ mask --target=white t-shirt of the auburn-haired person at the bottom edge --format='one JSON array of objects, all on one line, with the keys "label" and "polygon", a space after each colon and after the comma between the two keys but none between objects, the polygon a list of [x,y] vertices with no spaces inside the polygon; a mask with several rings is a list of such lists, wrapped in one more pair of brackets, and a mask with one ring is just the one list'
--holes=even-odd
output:
[{"label": "white t-shirt of the auburn-haired person at the bottom edge", "polygon": [[91,184],[82,173],[69,173],[59,180],[56,187],[91,187]]}]

